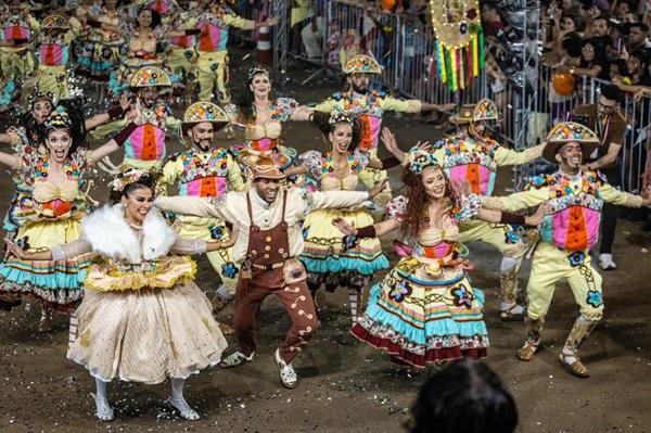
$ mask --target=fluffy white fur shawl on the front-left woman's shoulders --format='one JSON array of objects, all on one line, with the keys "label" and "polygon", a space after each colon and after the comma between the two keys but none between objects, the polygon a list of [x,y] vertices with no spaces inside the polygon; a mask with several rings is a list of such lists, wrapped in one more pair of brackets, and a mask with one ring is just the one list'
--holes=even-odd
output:
[{"label": "fluffy white fur shawl on the front-left woman's shoulders", "polygon": [[88,215],[81,221],[81,235],[98,253],[140,263],[166,255],[177,240],[177,233],[167,225],[163,216],[152,208],[142,222],[142,243],[124,218],[124,207],[119,204],[104,206]]}]

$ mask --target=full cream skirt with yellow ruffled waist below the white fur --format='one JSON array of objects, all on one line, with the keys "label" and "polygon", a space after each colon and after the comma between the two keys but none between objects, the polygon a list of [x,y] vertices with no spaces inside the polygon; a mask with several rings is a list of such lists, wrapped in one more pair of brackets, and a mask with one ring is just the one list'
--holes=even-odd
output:
[{"label": "full cream skirt with yellow ruffled waist below the white fur", "polygon": [[[164,259],[155,272],[101,272],[71,320],[67,357],[104,382],[148,384],[187,379],[219,362],[227,347],[188,257]],[[149,282],[145,282],[148,280]],[[91,289],[92,288],[92,289]]]}]

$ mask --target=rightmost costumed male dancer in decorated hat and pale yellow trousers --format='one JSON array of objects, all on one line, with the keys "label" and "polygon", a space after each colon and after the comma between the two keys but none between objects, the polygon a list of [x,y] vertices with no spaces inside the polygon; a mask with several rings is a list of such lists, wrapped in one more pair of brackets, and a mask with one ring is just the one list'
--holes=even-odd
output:
[{"label": "rightmost costumed male dancer in decorated hat and pale yellow trousers", "polygon": [[540,330],[559,280],[565,278],[580,307],[580,315],[561,351],[561,365],[580,378],[589,377],[578,357],[580,344],[603,315],[601,276],[590,264],[590,247],[599,238],[603,203],[640,207],[651,204],[648,196],[621,192],[607,183],[599,171],[583,170],[599,139],[587,127],[564,122],[554,126],[546,140],[542,157],[560,169],[553,175],[537,176],[528,190],[503,198],[483,198],[483,206],[515,212],[547,203],[550,211],[539,226],[532,273],[526,288],[528,305],[527,336],[518,358],[533,359],[540,345]]}]

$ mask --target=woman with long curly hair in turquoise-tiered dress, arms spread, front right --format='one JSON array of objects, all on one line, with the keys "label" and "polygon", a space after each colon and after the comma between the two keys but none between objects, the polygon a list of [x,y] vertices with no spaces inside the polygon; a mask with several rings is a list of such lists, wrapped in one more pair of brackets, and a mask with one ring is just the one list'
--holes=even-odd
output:
[{"label": "woman with long curly hair in turquoise-tiered dress, arms spread, front right", "polygon": [[394,360],[420,368],[461,357],[486,356],[484,296],[468,278],[471,265],[460,255],[461,245],[456,242],[459,221],[477,213],[480,218],[493,222],[510,218],[535,224],[535,218],[541,216],[525,218],[480,211],[474,200],[459,205],[430,152],[424,147],[409,152],[404,178],[407,196],[392,200],[388,219],[361,228],[344,219],[333,221],[347,235],[346,244],[399,229],[411,247],[373,286],[367,310],[350,332],[388,352]]}]

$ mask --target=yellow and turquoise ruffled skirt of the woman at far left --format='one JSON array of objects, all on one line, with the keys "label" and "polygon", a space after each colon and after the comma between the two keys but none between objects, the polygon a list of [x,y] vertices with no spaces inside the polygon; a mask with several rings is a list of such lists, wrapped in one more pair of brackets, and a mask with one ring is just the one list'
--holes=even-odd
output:
[{"label": "yellow and turquoise ruffled skirt of the woman at far left", "polygon": [[[51,249],[75,241],[81,233],[76,219],[28,221],[15,241],[29,251]],[[46,309],[74,310],[84,296],[82,283],[94,254],[65,260],[31,262],[10,257],[0,264],[0,302],[17,305],[22,297],[37,301]]]}]

